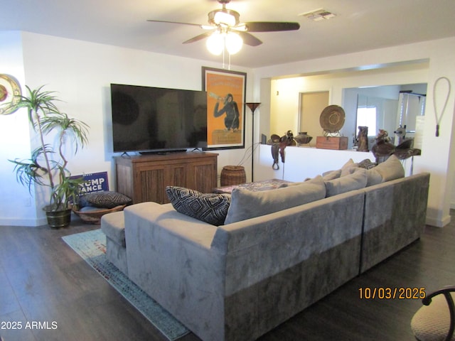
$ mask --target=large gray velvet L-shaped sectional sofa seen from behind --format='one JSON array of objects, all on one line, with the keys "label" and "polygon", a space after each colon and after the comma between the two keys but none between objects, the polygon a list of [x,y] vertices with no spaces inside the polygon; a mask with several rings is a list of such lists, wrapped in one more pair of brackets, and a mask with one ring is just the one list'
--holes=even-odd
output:
[{"label": "large gray velvet L-shaped sectional sofa seen from behind", "polygon": [[202,340],[255,340],[422,233],[428,173],[336,173],[235,190],[220,226],[131,205],[102,217],[107,256]]}]

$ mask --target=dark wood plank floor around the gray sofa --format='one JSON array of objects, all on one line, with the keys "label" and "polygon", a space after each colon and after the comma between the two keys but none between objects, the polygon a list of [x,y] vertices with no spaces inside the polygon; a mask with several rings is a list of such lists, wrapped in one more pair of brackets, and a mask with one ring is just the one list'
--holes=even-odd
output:
[{"label": "dark wood plank floor around the gray sofa", "polygon": [[[75,220],[59,230],[0,227],[0,335],[5,341],[167,340],[62,241],[99,228]],[[359,289],[429,292],[454,283],[455,223],[427,227],[422,239],[260,340],[414,340],[410,320],[419,300],[361,300]],[[181,339],[194,340],[193,334]]]}]

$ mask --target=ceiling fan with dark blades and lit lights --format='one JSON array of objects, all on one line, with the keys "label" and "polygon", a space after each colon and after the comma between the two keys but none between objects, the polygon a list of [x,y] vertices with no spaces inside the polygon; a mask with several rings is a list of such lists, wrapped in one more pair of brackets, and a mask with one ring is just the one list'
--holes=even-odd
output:
[{"label": "ceiling fan with dark blades and lit lights", "polygon": [[226,9],[226,4],[230,0],[218,0],[223,5],[222,9],[215,9],[208,13],[208,25],[198,23],[181,23],[177,21],[148,20],[155,23],[178,23],[182,25],[199,26],[208,30],[196,37],[188,39],[183,44],[194,43],[195,41],[212,36],[213,33],[237,33],[243,40],[243,43],[250,46],[261,45],[262,41],[250,34],[249,32],[277,32],[277,31],[295,31],[300,28],[299,23],[280,22],[280,21],[250,21],[240,22],[240,14],[232,9]]}]

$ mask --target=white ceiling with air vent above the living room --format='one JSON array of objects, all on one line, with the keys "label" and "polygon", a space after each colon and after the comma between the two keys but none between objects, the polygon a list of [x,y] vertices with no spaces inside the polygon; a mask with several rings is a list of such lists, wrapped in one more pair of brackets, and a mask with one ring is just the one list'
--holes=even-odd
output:
[{"label": "white ceiling with air vent above the living room", "polygon": [[[216,0],[14,0],[2,1],[0,31],[28,31],[118,45],[156,53],[222,62],[198,26],[151,23],[147,19],[206,24]],[[296,21],[299,31],[253,33],[262,45],[244,45],[232,65],[264,67],[392,45],[455,36],[454,0],[232,0],[240,21]],[[325,9],[335,18],[311,21],[301,13]],[[1,42],[0,42],[1,43]],[[58,47],[56,47],[58,48]]]}]

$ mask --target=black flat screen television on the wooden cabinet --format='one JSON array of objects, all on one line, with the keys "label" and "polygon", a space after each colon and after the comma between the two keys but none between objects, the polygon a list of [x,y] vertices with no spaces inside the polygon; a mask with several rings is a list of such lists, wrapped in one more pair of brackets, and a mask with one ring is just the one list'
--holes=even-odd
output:
[{"label": "black flat screen television on the wooden cabinet", "polygon": [[111,84],[114,152],[207,146],[207,92]]}]

